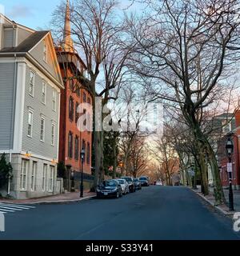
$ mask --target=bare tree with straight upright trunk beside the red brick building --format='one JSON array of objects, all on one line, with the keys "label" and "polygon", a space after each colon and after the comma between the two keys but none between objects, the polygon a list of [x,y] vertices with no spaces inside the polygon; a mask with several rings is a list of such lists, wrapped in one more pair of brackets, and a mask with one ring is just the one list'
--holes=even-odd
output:
[{"label": "bare tree with straight upright trunk beside the red brick building", "polygon": [[[127,56],[131,50],[123,40],[126,28],[125,24],[119,22],[115,16],[116,6],[117,2],[114,0],[74,0],[70,6],[73,50],[78,50],[83,68],[81,72],[74,72],[73,69],[74,75],[69,79],[78,79],[81,86],[89,90],[93,97],[94,187],[103,178],[102,121],[106,114],[102,113],[102,108],[107,102],[118,97],[118,91],[124,83],[123,77],[126,75]],[[64,13],[64,5],[58,6],[54,13],[54,28],[57,31],[55,34],[56,38],[60,39],[58,41],[60,46],[62,13]],[[67,78],[67,75],[65,77]],[[74,91],[75,88],[72,90]],[[102,98],[100,106],[97,105],[98,97]],[[96,110],[99,115],[96,114]],[[100,128],[97,130],[96,127]]]}]

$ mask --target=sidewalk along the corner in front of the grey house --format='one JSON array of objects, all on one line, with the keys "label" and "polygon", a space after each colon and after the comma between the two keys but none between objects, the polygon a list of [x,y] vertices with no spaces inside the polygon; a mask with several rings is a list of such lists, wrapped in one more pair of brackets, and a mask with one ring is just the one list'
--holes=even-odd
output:
[{"label": "sidewalk along the corner in front of the grey house", "polygon": [[95,197],[95,193],[88,192],[88,191],[83,192],[83,198],[80,198],[79,194],[80,192],[66,192],[64,194],[57,194],[57,195],[43,197],[43,198],[31,198],[31,199],[24,199],[24,200],[0,198],[0,203],[1,202],[20,203],[20,204],[21,203],[22,204],[63,203],[63,202],[78,202],[78,201]]}]

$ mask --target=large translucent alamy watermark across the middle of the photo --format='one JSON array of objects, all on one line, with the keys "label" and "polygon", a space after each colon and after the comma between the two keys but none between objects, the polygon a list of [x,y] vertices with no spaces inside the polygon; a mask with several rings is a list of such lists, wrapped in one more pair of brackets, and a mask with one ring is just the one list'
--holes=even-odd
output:
[{"label": "large translucent alamy watermark across the middle of the photo", "polygon": [[142,133],[162,134],[163,130],[162,103],[112,103],[102,106],[102,98],[96,97],[94,107],[86,102],[81,103],[77,112],[79,131],[138,130]]}]

